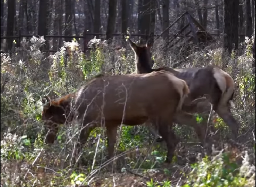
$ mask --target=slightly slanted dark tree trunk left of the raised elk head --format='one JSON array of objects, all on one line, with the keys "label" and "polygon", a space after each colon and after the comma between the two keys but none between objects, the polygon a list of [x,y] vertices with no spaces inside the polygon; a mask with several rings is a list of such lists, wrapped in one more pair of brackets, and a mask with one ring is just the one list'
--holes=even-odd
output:
[{"label": "slightly slanted dark tree trunk left of the raised elk head", "polygon": [[109,0],[109,17],[108,17],[108,26],[106,28],[106,40],[113,38],[116,16],[117,16],[117,0]]}]

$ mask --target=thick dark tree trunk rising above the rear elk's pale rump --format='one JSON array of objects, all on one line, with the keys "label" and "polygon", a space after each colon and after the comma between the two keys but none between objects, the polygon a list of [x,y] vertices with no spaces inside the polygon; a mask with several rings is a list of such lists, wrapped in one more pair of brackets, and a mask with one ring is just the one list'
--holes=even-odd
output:
[{"label": "thick dark tree trunk rising above the rear elk's pale rump", "polygon": [[[230,55],[233,49],[238,48],[238,11],[239,1],[224,0],[224,54],[226,49]],[[234,47],[233,43],[235,43]],[[223,59],[222,68],[226,68],[227,65],[227,60]]]}]

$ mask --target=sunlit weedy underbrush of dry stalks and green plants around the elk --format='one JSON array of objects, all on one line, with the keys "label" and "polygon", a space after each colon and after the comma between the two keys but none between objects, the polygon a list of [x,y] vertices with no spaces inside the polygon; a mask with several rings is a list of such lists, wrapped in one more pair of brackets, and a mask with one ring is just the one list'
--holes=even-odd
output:
[{"label": "sunlit weedy underbrush of dry stalks and green plants around the elk", "polygon": [[[59,97],[73,91],[88,79],[103,74],[130,74],[135,70],[134,53],[127,48],[115,49],[111,44],[93,39],[89,55],[80,51],[76,41],[67,42],[60,52],[45,57],[39,50],[44,38],[23,40],[12,57],[1,52],[1,185],[2,186],[255,186],[255,74],[251,73],[252,39],[246,40],[242,56],[226,57],[225,69],[235,80],[235,110],[240,121],[240,149],[222,144],[229,134],[226,124],[213,114],[212,124],[220,135],[218,149],[206,156],[195,141],[192,129],[175,126],[183,140],[172,165],[163,163],[166,148],[155,143],[144,126],[119,129],[115,173],[112,161],[106,162],[104,129],[95,129],[84,147],[79,161],[72,163],[79,124],[60,127],[56,143],[44,145],[41,121],[42,96]],[[195,50],[187,57],[175,50],[168,55],[160,49],[164,43],[155,41],[155,67],[172,66],[185,59],[179,67],[221,67],[222,51],[214,44]],[[198,116],[200,123],[201,117]],[[216,133],[216,132],[211,132]],[[201,156],[198,156],[200,154]],[[253,161],[252,161],[253,160]],[[105,167],[106,166],[106,167]]]}]

